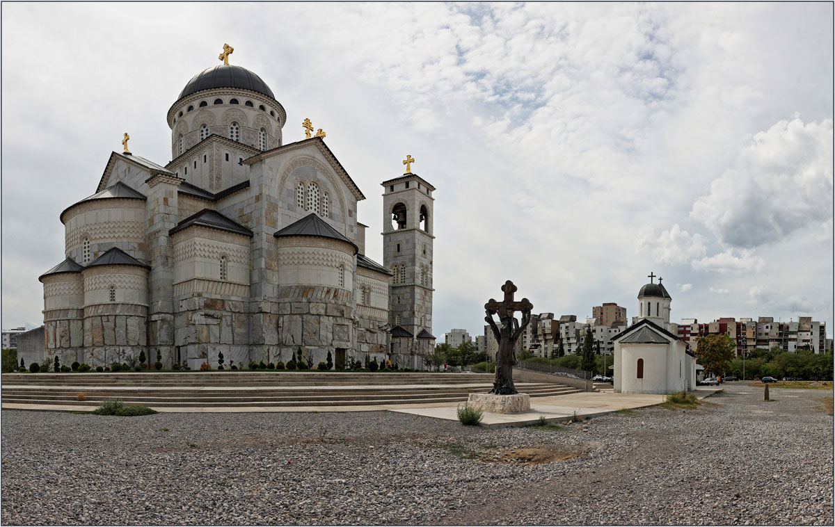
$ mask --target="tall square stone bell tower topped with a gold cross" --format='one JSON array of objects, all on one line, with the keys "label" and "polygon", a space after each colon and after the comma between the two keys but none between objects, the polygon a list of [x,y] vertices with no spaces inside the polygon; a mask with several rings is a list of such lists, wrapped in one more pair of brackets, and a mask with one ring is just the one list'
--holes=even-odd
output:
[{"label": "tall square stone bell tower topped with a gold cross", "polygon": [[[383,265],[392,271],[388,311],[392,329],[412,338],[432,333],[433,202],[435,188],[412,173],[382,183]],[[423,332],[423,333],[422,333]]]}]

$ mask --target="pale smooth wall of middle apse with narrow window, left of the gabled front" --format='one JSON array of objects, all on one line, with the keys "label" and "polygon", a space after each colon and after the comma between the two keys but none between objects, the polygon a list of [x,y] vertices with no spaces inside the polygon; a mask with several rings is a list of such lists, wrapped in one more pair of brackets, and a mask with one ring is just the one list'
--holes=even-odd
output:
[{"label": "pale smooth wall of middle apse with narrow window, left of the gabled front", "polygon": [[[174,286],[202,279],[250,284],[250,238],[216,228],[193,226],[174,234]],[[226,279],[220,279],[220,258],[226,258]]]}]

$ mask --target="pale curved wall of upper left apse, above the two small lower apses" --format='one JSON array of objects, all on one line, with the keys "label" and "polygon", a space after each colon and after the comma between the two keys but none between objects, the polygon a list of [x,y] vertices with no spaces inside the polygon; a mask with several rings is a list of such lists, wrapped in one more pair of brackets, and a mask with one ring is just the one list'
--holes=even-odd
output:
[{"label": "pale curved wall of upper left apse, above the two small lower apses", "polygon": [[83,239],[90,240],[90,261],[109,248],[120,248],[145,261],[145,202],[141,199],[94,199],[63,217],[66,254],[83,262]]}]

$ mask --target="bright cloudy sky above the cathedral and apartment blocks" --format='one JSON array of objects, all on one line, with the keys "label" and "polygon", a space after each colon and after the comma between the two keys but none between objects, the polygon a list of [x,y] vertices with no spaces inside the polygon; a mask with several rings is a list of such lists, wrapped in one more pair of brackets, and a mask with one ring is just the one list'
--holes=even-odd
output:
[{"label": "bright cloudy sky above the cathedral and apartment blocks", "polygon": [[483,330],[513,279],[535,312],[827,322],[832,3],[4,3],[3,329],[43,319],[58,213],[112,150],[170,158],[165,113],[218,64],[258,73],[362,188],[407,153],[435,195],[433,333]]}]

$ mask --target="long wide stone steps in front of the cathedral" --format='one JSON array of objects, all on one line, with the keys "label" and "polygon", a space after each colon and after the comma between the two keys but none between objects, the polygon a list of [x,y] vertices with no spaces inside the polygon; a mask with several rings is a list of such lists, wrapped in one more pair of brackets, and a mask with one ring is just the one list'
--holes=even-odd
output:
[{"label": "long wide stone steps in front of the cathedral", "polygon": [[[466,401],[493,374],[180,372],[3,374],[3,408],[98,406],[104,399],[154,409],[293,408]],[[531,397],[571,394],[556,383],[516,383]],[[83,401],[78,394],[84,394]],[[46,408],[44,408],[46,409]]]}]

